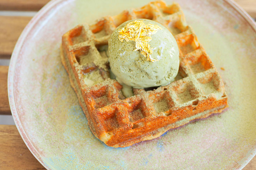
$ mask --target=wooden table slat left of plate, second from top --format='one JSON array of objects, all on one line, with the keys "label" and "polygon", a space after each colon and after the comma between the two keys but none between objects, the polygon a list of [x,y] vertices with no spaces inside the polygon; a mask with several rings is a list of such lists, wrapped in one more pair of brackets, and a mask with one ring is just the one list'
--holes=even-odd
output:
[{"label": "wooden table slat left of plate, second from top", "polygon": [[22,30],[31,20],[25,16],[0,16],[0,59],[10,58]]}]

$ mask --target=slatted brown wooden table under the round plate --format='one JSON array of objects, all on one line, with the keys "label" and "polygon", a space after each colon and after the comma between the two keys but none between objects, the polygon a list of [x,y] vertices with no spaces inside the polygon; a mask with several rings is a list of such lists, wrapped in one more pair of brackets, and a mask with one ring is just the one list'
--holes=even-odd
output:
[{"label": "slatted brown wooden table under the round plate", "polygon": [[[27,13],[17,13],[16,11],[38,11],[48,1],[0,0],[0,60],[10,59],[17,39],[32,18],[22,16]],[[256,18],[256,0],[235,1],[253,18]],[[12,16],[6,16],[6,14]],[[7,95],[7,72],[8,66],[0,65],[0,115],[11,115]],[[30,153],[15,125],[0,125],[0,169],[45,169]],[[254,169],[256,170],[256,156],[243,170]]]}]

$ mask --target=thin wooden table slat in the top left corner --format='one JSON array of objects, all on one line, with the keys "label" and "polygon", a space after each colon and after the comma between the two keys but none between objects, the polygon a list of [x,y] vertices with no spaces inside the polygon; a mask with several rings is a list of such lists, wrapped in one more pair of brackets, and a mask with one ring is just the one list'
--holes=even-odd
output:
[{"label": "thin wooden table slat in the top left corner", "polygon": [[50,0],[0,0],[0,10],[38,11]]}]

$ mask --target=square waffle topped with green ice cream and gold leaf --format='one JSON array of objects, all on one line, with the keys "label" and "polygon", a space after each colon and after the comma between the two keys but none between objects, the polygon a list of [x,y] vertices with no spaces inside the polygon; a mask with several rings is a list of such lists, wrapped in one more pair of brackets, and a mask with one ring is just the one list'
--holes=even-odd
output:
[{"label": "square waffle topped with green ice cream and gold leaf", "polygon": [[62,63],[95,137],[126,147],[228,107],[177,3],[150,2],[65,33]]}]

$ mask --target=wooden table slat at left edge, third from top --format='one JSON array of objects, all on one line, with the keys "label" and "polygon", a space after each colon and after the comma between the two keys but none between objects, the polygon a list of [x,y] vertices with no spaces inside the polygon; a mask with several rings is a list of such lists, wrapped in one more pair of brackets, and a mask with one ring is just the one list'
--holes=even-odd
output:
[{"label": "wooden table slat at left edge, third from top", "polygon": [[[8,93],[7,93],[7,73],[8,66],[0,65],[0,114],[8,114],[10,115],[10,107],[8,101]],[[1,138],[0,138],[1,139]],[[1,149],[0,149],[1,150]]]}]

